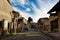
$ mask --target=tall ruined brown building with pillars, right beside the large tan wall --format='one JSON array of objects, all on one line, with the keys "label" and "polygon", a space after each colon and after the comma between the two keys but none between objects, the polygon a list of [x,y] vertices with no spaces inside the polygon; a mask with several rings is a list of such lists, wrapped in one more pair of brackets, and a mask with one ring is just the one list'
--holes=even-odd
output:
[{"label": "tall ruined brown building with pillars, right beside the large tan wall", "polygon": [[12,21],[11,23],[9,23],[9,32],[13,32],[13,33],[16,33],[16,30],[17,30],[17,22],[18,22],[18,19],[20,18],[20,14],[19,12],[16,12],[16,11],[12,11],[12,14],[13,14],[13,18],[12,18]]}]

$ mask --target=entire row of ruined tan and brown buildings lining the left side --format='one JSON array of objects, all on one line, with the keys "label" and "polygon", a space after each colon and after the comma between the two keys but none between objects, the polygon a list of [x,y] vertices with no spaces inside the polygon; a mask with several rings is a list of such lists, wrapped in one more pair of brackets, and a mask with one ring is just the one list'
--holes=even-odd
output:
[{"label": "entire row of ruined tan and brown buildings lining the left side", "polygon": [[0,35],[23,31],[24,26],[27,20],[12,9],[9,0],[0,0]]}]

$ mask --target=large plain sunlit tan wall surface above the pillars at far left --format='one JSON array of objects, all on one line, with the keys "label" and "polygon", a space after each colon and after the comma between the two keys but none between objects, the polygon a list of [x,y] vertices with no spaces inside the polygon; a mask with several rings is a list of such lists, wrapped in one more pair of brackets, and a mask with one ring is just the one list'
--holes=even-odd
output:
[{"label": "large plain sunlit tan wall surface above the pillars at far left", "polygon": [[12,7],[7,0],[0,0],[0,16],[3,19],[8,20],[9,22],[12,19]]}]

